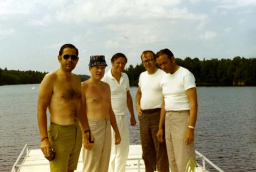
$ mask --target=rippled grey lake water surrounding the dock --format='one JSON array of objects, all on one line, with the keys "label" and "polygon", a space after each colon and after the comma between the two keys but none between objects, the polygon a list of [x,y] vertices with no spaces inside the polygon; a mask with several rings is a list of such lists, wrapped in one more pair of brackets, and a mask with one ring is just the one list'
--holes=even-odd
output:
[{"label": "rippled grey lake water surrounding the dock", "polygon": [[[0,171],[11,170],[26,143],[39,148],[38,86],[0,87]],[[135,99],[137,88],[130,91]],[[198,87],[197,93],[196,150],[224,171],[256,171],[256,87]],[[130,143],[140,144],[138,124],[130,127]]]}]

